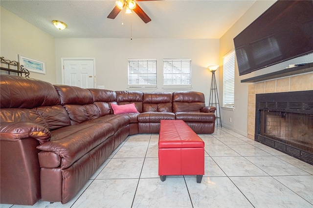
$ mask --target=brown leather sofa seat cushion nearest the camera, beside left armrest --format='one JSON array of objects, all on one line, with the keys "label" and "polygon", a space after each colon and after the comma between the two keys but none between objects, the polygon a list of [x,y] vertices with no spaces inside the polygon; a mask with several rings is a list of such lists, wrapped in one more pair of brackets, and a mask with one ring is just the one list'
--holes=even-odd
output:
[{"label": "brown leather sofa seat cushion nearest the camera, beside left armrest", "polygon": [[114,126],[110,123],[86,123],[52,131],[51,140],[37,148],[59,155],[62,169],[71,166],[114,134]]}]

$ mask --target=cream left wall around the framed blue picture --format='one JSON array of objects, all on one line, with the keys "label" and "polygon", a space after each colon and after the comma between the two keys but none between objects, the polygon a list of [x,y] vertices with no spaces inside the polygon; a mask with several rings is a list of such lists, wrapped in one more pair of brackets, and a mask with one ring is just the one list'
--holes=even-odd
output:
[{"label": "cream left wall around the framed blue picture", "polygon": [[30,78],[56,83],[54,38],[0,7],[1,57],[18,61],[18,55],[45,62],[46,74],[30,72]]}]

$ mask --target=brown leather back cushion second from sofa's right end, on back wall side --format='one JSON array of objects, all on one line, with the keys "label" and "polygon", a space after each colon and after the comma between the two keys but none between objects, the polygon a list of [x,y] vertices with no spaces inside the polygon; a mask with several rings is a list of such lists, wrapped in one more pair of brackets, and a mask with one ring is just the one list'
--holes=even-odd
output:
[{"label": "brown leather back cushion second from sofa's right end, on back wall side", "polygon": [[143,112],[172,112],[171,92],[147,92],[143,94]]}]

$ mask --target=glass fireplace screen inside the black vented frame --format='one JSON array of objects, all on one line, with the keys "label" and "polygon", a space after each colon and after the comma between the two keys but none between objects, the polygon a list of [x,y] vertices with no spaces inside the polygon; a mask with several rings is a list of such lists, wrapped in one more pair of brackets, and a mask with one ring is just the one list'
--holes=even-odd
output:
[{"label": "glass fireplace screen inside the black vented frame", "polygon": [[313,153],[313,115],[261,110],[262,136]]}]

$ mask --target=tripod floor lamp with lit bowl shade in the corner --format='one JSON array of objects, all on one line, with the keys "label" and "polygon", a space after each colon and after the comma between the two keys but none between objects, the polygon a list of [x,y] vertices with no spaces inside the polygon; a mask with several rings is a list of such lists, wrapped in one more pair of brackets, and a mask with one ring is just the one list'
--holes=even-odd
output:
[{"label": "tripod floor lamp with lit bowl shade in the corner", "polygon": [[222,120],[221,120],[221,110],[220,110],[220,101],[219,101],[219,93],[216,84],[215,78],[215,71],[217,70],[218,65],[208,66],[210,72],[212,72],[212,80],[211,80],[211,91],[210,91],[210,98],[209,98],[209,106],[216,107],[216,124],[219,126],[219,119],[222,127]]}]

